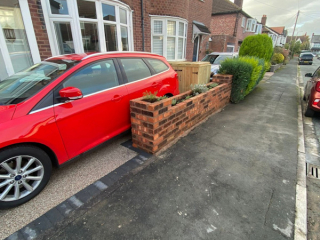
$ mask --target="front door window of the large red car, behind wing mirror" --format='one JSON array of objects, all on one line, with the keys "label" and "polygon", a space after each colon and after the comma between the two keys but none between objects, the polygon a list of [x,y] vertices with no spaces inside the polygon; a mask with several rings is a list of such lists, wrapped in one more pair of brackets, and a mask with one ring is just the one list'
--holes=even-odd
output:
[{"label": "front door window of the large red car, behind wing mirror", "polygon": [[117,72],[111,59],[86,66],[63,83],[63,87],[79,88],[84,96],[118,85]]}]

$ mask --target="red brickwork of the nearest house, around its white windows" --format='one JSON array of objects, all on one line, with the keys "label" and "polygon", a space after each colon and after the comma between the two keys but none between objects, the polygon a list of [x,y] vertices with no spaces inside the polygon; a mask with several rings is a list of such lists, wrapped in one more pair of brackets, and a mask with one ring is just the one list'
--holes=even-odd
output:
[{"label": "red brickwork of the nearest house, around its white windows", "polygon": [[[141,27],[141,1],[140,0],[122,0],[129,5],[133,12],[133,41],[135,51],[142,51],[142,27]],[[42,7],[40,0],[28,0],[33,26],[36,33],[36,39],[40,51],[41,59],[51,56],[48,35],[44,23]],[[149,15],[165,15],[181,17],[188,21],[187,34],[187,60],[192,60],[192,21],[204,23],[208,28],[210,26],[210,16],[212,1],[200,0],[144,0],[144,36],[145,51],[151,51],[151,17]],[[209,37],[201,42],[200,56],[205,55],[205,46]]]}]

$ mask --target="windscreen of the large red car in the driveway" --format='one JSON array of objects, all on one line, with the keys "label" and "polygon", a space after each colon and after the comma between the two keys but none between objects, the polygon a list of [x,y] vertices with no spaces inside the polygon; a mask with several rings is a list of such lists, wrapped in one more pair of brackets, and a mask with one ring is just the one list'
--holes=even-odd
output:
[{"label": "windscreen of the large red car in the driveway", "polygon": [[0,105],[20,103],[39,92],[78,61],[59,59],[35,64],[0,82]]}]

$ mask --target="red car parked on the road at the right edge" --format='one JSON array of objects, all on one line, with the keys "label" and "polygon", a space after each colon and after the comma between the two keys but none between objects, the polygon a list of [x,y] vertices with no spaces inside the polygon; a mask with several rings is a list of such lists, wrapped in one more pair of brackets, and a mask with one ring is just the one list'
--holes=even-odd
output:
[{"label": "red car parked on the road at the right edge", "polygon": [[305,77],[310,77],[304,88],[303,100],[307,102],[306,117],[312,117],[314,112],[320,112],[320,67],[312,74],[307,73]]}]

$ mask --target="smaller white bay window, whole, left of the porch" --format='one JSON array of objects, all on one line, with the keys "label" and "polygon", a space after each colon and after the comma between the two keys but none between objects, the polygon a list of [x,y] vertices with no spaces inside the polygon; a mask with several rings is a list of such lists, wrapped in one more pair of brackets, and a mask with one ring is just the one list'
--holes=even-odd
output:
[{"label": "smaller white bay window, whole, left of the porch", "polygon": [[185,60],[187,21],[172,17],[151,18],[151,52],[168,60]]}]

